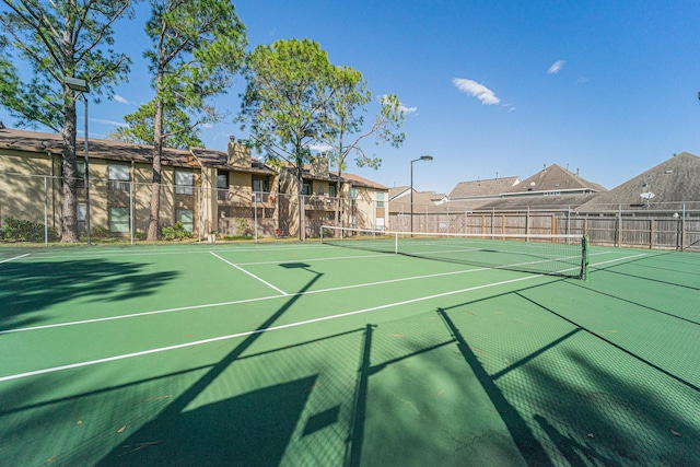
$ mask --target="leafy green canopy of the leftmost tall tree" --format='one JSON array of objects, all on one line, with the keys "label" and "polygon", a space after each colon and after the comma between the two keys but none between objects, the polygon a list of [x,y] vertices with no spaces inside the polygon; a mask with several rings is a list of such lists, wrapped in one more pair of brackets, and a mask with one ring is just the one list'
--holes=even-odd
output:
[{"label": "leafy green canopy of the leftmost tall tree", "polygon": [[[66,98],[72,106],[72,91],[63,84],[67,77],[83,79],[90,96],[112,95],[113,85],[124,80],[130,59],[114,51],[113,24],[132,17],[131,0],[11,1],[0,14],[7,39],[18,50],[16,58],[33,71],[30,80],[18,84],[0,83],[2,105],[18,118],[20,126],[43,124],[61,131],[67,120]],[[15,97],[5,100],[7,87],[16,85]]]}]

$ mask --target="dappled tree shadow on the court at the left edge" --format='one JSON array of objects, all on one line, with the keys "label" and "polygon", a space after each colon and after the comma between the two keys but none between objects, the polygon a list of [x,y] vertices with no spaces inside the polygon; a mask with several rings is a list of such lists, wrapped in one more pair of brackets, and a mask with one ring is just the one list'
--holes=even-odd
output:
[{"label": "dappled tree shadow on the court at the left edge", "polygon": [[153,294],[177,272],[145,272],[148,265],[101,259],[13,261],[0,265],[0,328],[40,320],[22,317],[77,299],[118,301]]}]

